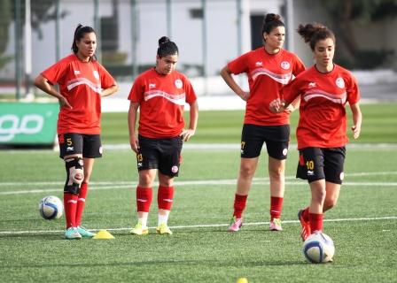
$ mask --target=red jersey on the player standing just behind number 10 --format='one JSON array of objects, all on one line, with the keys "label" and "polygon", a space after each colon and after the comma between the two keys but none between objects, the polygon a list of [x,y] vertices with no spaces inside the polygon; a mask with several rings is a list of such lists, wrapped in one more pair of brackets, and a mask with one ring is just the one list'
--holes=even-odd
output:
[{"label": "red jersey on the player standing just behind number 10", "polygon": [[290,123],[289,114],[273,113],[269,103],[279,97],[280,89],[305,71],[300,58],[286,50],[269,54],[263,47],[237,57],[228,64],[234,74],[246,73],[250,96],[245,106],[245,124],[279,126]]}]

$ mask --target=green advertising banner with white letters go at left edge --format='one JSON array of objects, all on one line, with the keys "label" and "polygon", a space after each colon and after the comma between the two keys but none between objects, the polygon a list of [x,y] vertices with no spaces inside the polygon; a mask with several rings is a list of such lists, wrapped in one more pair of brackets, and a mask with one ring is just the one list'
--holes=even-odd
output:
[{"label": "green advertising banner with white letters go at left edge", "polygon": [[0,145],[52,145],[58,103],[0,103]]}]

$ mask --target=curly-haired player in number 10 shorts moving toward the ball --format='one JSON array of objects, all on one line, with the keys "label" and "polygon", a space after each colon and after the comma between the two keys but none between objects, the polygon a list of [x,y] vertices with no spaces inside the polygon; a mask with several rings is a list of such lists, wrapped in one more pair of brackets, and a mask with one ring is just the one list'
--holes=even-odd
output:
[{"label": "curly-haired player in number 10 shorts moving toward the ball", "polygon": [[300,96],[300,122],[296,131],[300,162],[297,177],[307,180],[310,205],[298,217],[303,241],[323,231],[323,213],[338,201],[344,177],[346,103],[353,113],[353,137],[360,136],[360,92],[352,73],[333,63],[335,35],[321,24],[300,25],[298,33],[308,42],[315,65],[282,89],[282,100],[270,103],[272,111],[284,111]]}]

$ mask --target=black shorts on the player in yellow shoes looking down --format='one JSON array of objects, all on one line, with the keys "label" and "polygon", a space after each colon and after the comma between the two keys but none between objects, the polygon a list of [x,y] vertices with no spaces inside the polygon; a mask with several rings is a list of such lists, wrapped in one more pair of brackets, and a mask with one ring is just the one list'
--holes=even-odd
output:
[{"label": "black shorts on the player in yellow shoes looking down", "polygon": [[138,171],[159,169],[161,173],[176,177],[181,164],[182,137],[151,139],[139,134],[136,154]]}]

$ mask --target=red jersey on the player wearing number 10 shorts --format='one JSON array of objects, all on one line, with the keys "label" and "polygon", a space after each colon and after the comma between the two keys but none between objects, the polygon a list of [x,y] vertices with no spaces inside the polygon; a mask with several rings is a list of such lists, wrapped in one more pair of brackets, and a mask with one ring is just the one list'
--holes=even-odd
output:
[{"label": "red jersey on the player wearing number 10 shorts", "polygon": [[345,146],[346,103],[358,103],[360,91],[353,75],[339,65],[330,73],[315,66],[301,73],[282,89],[286,103],[300,96],[300,122],[296,131],[298,149]]}]

